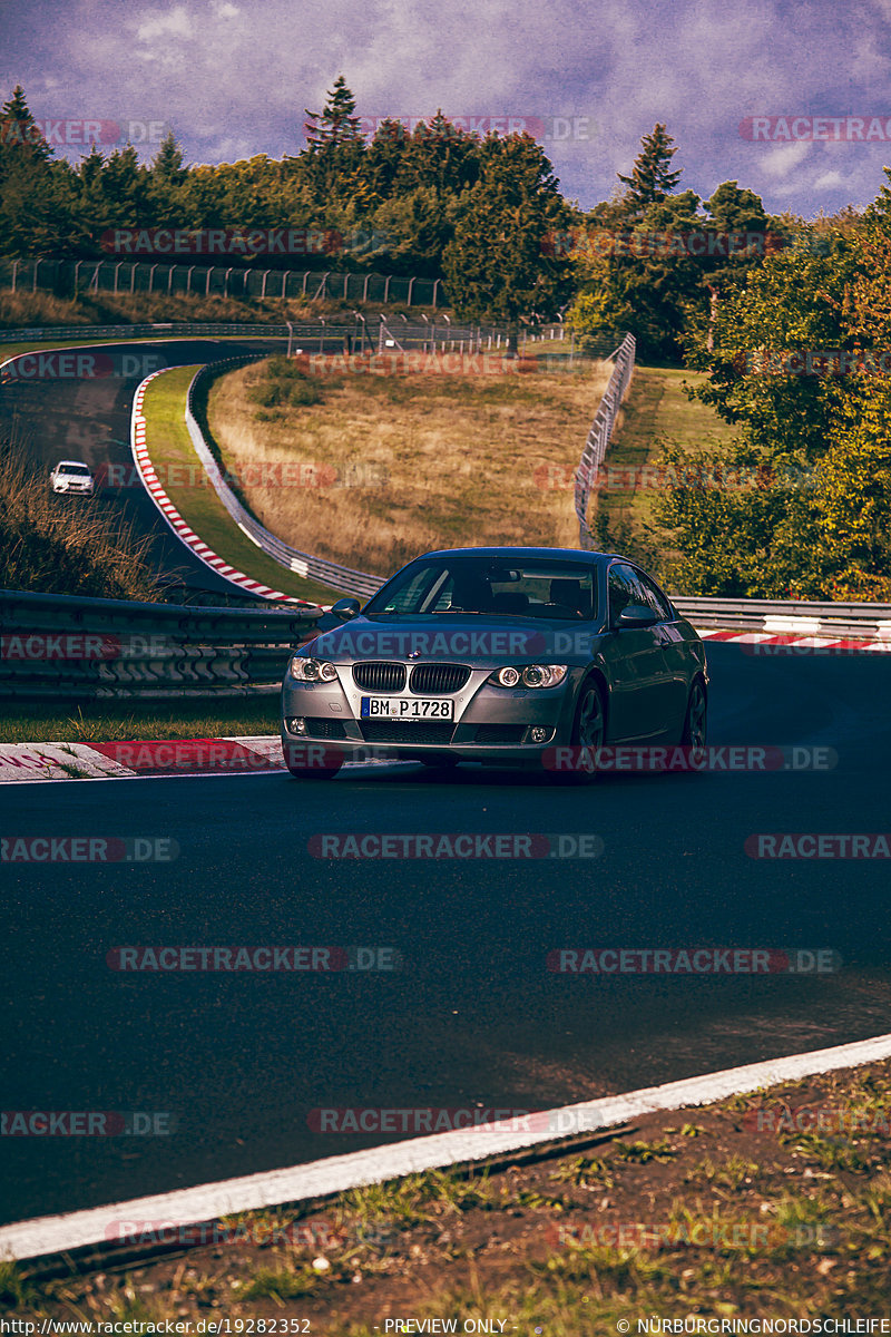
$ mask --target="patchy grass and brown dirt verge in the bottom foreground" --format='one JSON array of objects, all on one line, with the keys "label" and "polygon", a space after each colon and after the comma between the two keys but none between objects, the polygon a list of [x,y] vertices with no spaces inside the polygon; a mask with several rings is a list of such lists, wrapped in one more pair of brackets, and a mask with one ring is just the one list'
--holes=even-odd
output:
[{"label": "patchy grass and brown dirt verge in the bottom foreground", "polygon": [[52,1281],[5,1265],[0,1290],[23,1318],[275,1318],[330,1337],[395,1318],[601,1337],[691,1314],[887,1317],[890,1119],[891,1064],[875,1063],[648,1115],[586,1147],[228,1218],[212,1245],[144,1265]]}]

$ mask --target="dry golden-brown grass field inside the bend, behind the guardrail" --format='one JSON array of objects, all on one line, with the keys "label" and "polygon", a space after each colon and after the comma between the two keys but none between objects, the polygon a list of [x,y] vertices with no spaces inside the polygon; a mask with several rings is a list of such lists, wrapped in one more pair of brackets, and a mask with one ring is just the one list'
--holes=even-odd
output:
[{"label": "dry golden-brown grass field inside the bend, behind the guardrail", "polygon": [[[266,528],[390,575],[431,548],[576,547],[572,475],[610,370],[322,377],[321,404],[263,409],[264,362],[216,381],[208,417]],[[305,468],[303,485],[262,485],[283,465],[355,483],[306,485]]]}]

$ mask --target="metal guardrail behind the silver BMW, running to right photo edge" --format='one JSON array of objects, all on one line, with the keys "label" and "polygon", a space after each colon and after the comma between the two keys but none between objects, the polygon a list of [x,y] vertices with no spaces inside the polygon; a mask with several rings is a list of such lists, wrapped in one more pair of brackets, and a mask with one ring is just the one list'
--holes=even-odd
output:
[{"label": "metal guardrail behind the silver BMW, running to right photo edge", "polygon": [[696,627],[795,631],[859,640],[891,640],[890,603],[820,603],[807,599],[707,599],[672,595]]}]

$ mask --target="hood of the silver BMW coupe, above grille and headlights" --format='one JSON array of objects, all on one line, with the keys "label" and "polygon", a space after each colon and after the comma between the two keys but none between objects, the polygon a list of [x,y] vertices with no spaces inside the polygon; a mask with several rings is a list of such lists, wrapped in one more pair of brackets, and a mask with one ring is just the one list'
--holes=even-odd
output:
[{"label": "hood of the silver BMW coupe, above grille and headlights", "polygon": [[322,631],[303,654],[342,663],[353,659],[453,660],[505,663],[540,658],[588,659],[601,635],[597,622],[456,614],[365,618]]}]

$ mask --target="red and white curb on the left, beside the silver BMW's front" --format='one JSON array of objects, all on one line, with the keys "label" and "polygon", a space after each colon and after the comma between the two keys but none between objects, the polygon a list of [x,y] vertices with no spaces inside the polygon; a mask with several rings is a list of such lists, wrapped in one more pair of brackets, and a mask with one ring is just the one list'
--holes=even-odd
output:
[{"label": "red and white curb on the left, beside the silver BMW's front", "polygon": [[107,743],[0,743],[0,785],[28,779],[132,779],[285,770],[282,739],[135,739]]}]

